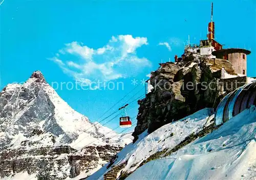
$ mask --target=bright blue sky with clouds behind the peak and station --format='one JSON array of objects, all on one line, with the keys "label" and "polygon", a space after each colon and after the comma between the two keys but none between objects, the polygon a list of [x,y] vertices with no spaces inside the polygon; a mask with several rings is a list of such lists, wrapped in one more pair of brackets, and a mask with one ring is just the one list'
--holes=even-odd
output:
[{"label": "bright blue sky with clouds behind the peak and station", "polygon": [[[216,40],[225,48],[250,49],[247,74],[256,76],[255,2],[213,2]],[[35,70],[49,84],[122,82],[123,90],[56,90],[95,121],[135,87],[133,79],[140,83],[161,61],[181,56],[188,35],[191,43],[206,39],[210,6],[211,1],[5,0],[0,6],[0,88],[26,81]],[[109,113],[135,93],[143,95],[143,86]],[[129,106],[129,115],[136,116],[136,102]],[[115,128],[118,118],[106,126]]]}]

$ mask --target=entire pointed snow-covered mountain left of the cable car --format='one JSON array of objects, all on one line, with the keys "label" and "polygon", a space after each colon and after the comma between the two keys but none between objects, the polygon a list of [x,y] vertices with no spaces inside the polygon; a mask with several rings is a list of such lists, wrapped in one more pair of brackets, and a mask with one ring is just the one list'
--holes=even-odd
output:
[{"label": "entire pointed snow-covered mountain left of the cable car", "polygon": [[74,111],[39,71],[0,92],[2,178],[88,176],[130,142]]}]

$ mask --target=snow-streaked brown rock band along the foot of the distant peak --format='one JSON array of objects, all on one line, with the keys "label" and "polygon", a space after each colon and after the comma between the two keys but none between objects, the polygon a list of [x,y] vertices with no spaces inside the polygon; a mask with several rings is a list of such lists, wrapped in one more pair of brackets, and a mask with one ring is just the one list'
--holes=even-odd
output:
[{"label": "snow-streaked brown rock band along the foot of the distant peak", "polygon": [[[118,145],[87,146],[80,151],[54,142],[50,133],[34,134],[29,140],[0,151],[0,176],[27,171],[37,179],[65,179],[82,171],[90,172],[103,166],[117,152]],[[42,143],[42,142],[46,142]]]}]

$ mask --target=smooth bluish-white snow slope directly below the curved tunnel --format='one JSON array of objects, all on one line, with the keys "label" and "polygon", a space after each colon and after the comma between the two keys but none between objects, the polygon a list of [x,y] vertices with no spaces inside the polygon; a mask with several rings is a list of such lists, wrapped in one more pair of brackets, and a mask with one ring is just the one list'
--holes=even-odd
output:
[{"label": "smooth bluish-white snow slope directly below the curved tunnel", "polygon": [[172,155],[126,179],[256,179],[256,110],[247,109]]}]

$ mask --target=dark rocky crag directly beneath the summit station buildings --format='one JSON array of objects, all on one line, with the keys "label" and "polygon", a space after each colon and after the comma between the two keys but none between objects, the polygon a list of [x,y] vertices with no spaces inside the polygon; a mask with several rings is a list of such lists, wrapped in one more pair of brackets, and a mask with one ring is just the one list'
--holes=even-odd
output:
[{"label": "dark rocky crag directly beneath the summit station buildings", "polygon": [[230,74],[234,72],[229,61],[208,59],[195,53],[184,54],[178,63],[160,64],[151,73],[150,83],[154,89],[138,101],[134,141],[147,129],[152,133],[166,123],[203,108],[216,108],[224,93],[218,87],[223,68]]}]

